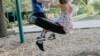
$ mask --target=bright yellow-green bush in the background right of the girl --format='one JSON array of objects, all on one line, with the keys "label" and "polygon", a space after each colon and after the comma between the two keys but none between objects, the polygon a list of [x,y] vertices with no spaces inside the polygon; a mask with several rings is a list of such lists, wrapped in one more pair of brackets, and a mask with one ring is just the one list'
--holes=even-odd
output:
[{"label": "bright yellow-green bush in the background right of the girl", "polygon": [[91,4],[88,4],[89,1],[90,0],[77,0],[77,5],[79,6],[78,14],[91,14],[92,12],[94,12],[94,7]]}]

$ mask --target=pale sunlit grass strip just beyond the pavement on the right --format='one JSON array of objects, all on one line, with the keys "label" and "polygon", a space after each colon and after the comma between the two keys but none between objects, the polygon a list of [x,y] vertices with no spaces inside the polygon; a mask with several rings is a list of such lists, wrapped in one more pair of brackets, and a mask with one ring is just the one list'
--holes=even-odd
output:
[{"label": "pale sunlit grass strip just beyond the pavement on the right", "polygon": [[81,14],[74,17],[75,21],[83,21],[83,20],[97,20],[100,19],[100,14],[93,13],[91,15]]}]

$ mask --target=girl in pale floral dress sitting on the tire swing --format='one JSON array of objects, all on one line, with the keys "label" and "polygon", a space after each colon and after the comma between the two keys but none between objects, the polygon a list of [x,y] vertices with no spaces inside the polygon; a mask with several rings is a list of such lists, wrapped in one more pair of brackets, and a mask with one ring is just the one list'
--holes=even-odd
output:
[{"label": "girl in pale floral dress sitting on the tire swing", "polygon": [[[73,30],[73,24],[72,24],[72,12],[73,12],[73,8],[72,8],[72,1],[73,0],[59,0],[60,4],[49,4],[51,8],[61,8],[61,14],[60,17],[56,20],[54,20],[53,22],[61,25],[63,27],[63,30],[66,33],[70,33]],[[42,36],[45,36],[45,34],[47,33],[44,31]],[[40,41],[42,37],[39,37],[39,40],[36,42],[36,44],[38,46],[40,46],[42,48],[42,50],[44,50],[43,48],[43,41]],[[41,43],[40,43],[41,42]],[[42,44],[42,45],[41,45]]]}]

